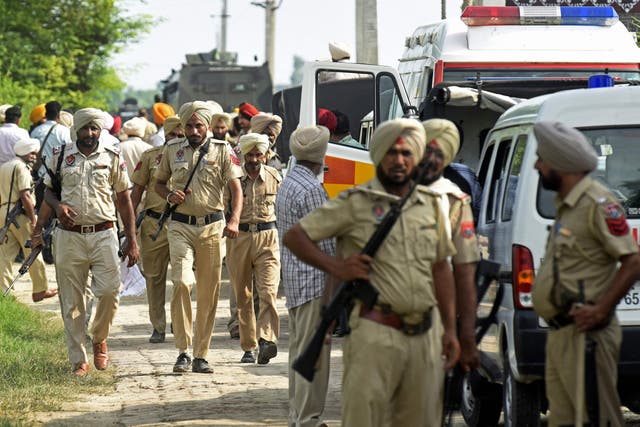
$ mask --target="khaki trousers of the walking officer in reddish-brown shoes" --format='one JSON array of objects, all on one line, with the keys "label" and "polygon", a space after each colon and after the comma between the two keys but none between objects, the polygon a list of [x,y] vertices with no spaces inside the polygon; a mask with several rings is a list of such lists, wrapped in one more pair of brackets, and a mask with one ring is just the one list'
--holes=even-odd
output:
[{"label": "khaki trousers of the walking officer in reddish-brown shoes", "polygon": [[[86,296],[93,291],[98,300],[92,324],[93,342],[109,336],[119,303],[120,259],[115,227],[80,234],[57,229],[53,236],[56,279],[62,308],[69,361],[87,362]],[[88,280],[91,271],[92,280]]]}]

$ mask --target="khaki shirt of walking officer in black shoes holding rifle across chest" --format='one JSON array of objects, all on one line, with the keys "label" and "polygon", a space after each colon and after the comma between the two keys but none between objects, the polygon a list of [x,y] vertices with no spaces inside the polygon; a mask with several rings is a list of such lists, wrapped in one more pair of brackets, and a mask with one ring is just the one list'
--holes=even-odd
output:
[{"label": "khaki shirt of walking officer in black shoes holding rifle across chest", "polygon": [[[225,141],[210,138],[207,154],[202,158],[187,195],[176,212],[184,215],[204,216],[223,209],[222,195],[227,181],[240,178],[242,169],[238,158],[231,152]],[[205,142],[206,143],[206,142]],[[200,147],[195,150],[186,138],[175,139],[165,146],[156,171],[158,181],[172,180],[172,188],[183,190]]]}]

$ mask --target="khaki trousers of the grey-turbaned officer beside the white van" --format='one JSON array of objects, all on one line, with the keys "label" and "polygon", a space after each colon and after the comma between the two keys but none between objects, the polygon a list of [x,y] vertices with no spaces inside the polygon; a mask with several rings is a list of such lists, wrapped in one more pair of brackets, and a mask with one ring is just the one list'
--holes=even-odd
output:
[{"label": "khaki trousers of the grey-turbaned officer beside the white van", "polygon": [[[601,426],[622,426],[624,420],[620,410],[620,399],[616,382],[618,379],[618,359],[622,343],[622,331],[618,320],[614,318],[606,328],[589,332],[596,341],[596,366],[598,379],[598,400],[600,401]],[[545,386],[549,399],[549,426],[574,425],[575,407],[578,398],[576,378],[579,333],[575,325],[552,331],[547,335]],[[587,416],[584,404],[583,421]],[[591,420],[589,420],[591,424]]]}]

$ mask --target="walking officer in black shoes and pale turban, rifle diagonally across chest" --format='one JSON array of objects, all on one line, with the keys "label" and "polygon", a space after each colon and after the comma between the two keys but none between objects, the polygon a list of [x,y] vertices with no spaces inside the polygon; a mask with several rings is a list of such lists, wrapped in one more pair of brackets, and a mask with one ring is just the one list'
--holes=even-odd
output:
[{"label": "walking officer in black shoes and pale turban, rifle diagonally across chest", "polygon": [[[242,176],[240,162],[225,141],[209,138],[213,114],[212,105],[203,101],[188,102],[180,107],[178,116],[186,138],[166,145],[156,171],[156,192],[167,202],[178,205],[167,231],[173,281],[171,324],[179,350],[174,372],[186,372],[191,365],[187,350],[192,343],[190,293],[195,284],[197,308],[192,371],[213,373],[205,357],[218,305],[220,238],[223,233],[229,239],[237,237],[242,211],[242,192],[237,179]],[[194,170],[195,175],[185,191]],[[169,179],[172,190],[167,187]],[[222,195],[227,183],[231,187],[234,214],[225,226]]]}]

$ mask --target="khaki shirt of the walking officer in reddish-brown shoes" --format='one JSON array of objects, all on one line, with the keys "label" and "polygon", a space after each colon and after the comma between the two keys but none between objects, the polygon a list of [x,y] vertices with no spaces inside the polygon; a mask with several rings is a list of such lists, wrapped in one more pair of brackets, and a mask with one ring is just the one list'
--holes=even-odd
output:
[{"label": "khaki shirt of the walking officer in reddish-brown shoes", "polygon": [[[131,186],[120,150],[103,141],[88,156],[82,154],[76,144],[66,145],[64,153],[61,148],[54,149],[53,156],[47,160],[47,167],[56,173],[58,157],[64,156],[60,166],[60,200],[78,213],[76,225],[116,221],[113,192],[120,193]],[[45,176],[44,183],[51,188],[49,174]]]}]

